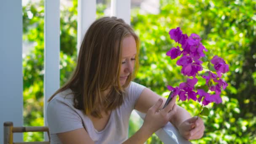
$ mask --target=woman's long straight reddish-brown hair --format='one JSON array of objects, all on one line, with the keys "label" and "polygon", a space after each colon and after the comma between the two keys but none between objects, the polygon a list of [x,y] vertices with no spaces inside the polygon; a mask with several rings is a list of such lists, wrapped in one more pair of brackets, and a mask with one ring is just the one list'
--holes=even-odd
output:
[{"label": "woman's long straight reddish-brown hair", "polygon": [[[125,37],[133,36],[137,54],[135,68],[125,84],[120,85],[122,43]],[[131,26],[116,17],[103,17],[91,24],[80,47],[77,66],[70,79],[48,101],[61,91],[71,89],[74,107],[85,115],[102,117],[105,112],[123,103],[124,89],[128,87],[138,72],[139,37]],[[103,94],[108,90],[108,94]]]}]

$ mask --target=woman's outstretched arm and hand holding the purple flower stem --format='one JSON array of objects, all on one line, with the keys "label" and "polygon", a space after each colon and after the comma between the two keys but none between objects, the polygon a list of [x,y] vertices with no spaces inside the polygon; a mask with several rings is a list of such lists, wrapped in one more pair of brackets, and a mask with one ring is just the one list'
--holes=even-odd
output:
[{"label": "woman's outstretched arm and hand holding the purple flower stem", "polygon": [[[135,104],[135,109],[146,113],[149,107],[151,107],[157,99],[163,99],[163,104],[159,107],[160,110],[164,106],[166,99],[157,95],[149,88],[145,88]],[[174,99],[176,99],[176,97]],[[176,112],[170,119],[170,122],[179,130],[181,135],[185,139],[200,139],[205,130],[203,120],[200,117],[191,117],[187,110],[178,105],[176,105],[175,111]]]}]

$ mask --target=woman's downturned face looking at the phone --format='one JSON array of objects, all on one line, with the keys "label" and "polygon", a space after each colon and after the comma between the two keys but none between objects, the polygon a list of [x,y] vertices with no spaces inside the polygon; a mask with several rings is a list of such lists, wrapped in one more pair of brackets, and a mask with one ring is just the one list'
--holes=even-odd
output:
[{"label": "woman's downturned face looking at the phone", "polygon": [[122,45],[122,64],[119,77],[120,85],[124,85],[128,76],[132,74],[136,53],[136,41],[134,37],[125,37]]}]

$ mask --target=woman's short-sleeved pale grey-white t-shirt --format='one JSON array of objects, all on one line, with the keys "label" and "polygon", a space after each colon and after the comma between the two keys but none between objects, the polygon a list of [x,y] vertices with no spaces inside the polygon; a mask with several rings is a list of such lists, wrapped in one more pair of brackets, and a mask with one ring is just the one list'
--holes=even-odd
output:
[{"label": "woman's short-sleeved pale grey-white t-shirt", "polygon": [[83,111],[74,107],[70,89],[58,93],[47,107],[47,122],[51,144],[61,144],[56,133],[85,128],[95,144],[121,144],[128,139],[129,118],[144,86],[131,82],[125,92],[123,104],[112,110],[109,121],[102,131],[93,127],[92,121]]}]

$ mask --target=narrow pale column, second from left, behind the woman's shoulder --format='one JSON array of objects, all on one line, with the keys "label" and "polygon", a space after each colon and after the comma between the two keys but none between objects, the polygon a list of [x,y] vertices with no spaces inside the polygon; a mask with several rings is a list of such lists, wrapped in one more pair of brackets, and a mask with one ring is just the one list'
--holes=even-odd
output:
[{"label": "narrow pale column, second from left, behind the woman's shoulder", "polygon": [[48,125],[47,101],[60,86],[60,0],[45,0],[44,45],[44,123]]}]

